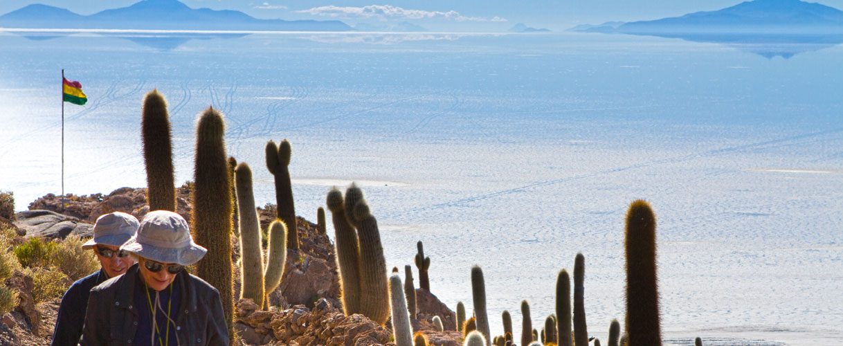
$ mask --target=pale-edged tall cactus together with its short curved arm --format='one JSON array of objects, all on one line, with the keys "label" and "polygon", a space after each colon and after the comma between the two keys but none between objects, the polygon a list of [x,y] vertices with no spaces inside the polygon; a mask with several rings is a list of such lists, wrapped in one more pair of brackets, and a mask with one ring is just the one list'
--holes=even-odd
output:
[{"label": "pale-edged tall cactus together with its short curved arm", "polygon": [[258,306],[267,307],[266,295],[281,284],[287,259],[287,227],[276,220],[269,225],[269,249],[264,263],[260,247],[260,221],[252,192],[252,170],[240,163],[234,173],[239,209],[240,275],[243,288],[240,298],[251,298]]}]

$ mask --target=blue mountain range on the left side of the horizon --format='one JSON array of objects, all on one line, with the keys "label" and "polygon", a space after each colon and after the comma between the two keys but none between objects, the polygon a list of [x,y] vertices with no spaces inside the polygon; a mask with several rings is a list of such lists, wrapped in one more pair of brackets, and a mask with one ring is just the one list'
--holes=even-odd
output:
[{"label": "blue mountain range on the left side of the horizon", "polygon": [[178,0],[142,0],[88,16],[65,8],[33,4],[0,16],[0,27],[20,29],[191,29],[348,31],[338,20],[255,19],[246,13],[189,8]]}]

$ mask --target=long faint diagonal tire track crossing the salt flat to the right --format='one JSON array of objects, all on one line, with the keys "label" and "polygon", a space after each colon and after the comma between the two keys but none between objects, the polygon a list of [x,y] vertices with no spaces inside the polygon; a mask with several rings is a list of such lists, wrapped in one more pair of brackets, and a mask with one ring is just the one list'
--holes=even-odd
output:
[{"label": "long faint diagonal tire track crossing the salt flat to the right", "polygon": [[489,199],[499,197],[499,196],[503,196],[503,195],[507,195],[507,194],[514,194],[514,193],[518,193],[518,192],[526,192],[529,189],[536,189],[536,188],[540,188],[540,187],[544,187],[544,186],[566,183],[566,182],[569,182],[569,181],[579,180],[579,179],[583,179],[583,178],[592,178],[592,177],[597,177],[597,176],[601,176],[601,175],[606,175],[606,174],[611,174],[611,173],[619,173],[619,172],[629,171],[631,169],[644,168],[644,167],[655,166],[655,165],[660,165],[660,164],[665,164],[665,163],[684,162],[684,161],[689,161],[689,160],[701,158],[701,157],[715,157],[715,156],[730,153],[730,152],[739,152],[739,151],[742,151],[742,150],[745,150],[745,149],[757,148],[757,147],[761,147],[761,146],[770,146],[770,145],[785,143],[787,141],[797,141],[797,140],[801,140],[801,139],[823,136],[823,135],[828,135],[828,134],[832,134],[832,133],[839,133],[839,132],[843,132],[843,128],[837,128],[837,129],[832,129],[832,130],[824,130],[824,131],[819,131],[819,132],[812,132],[812,133],[807,133],[807,134],[798,135],[798,136],[790,136],[790,137],[786,137],[786,138],[779,138],[779,139],[771,140],[771,141],[760,141],[760,142],[755,142],[755,143],[744,144],[744,145],[741,145],[741,146],[728,146],[728,147],[724,147],[724,148],[720,148],[720,149],[710,150],[710,151],[706,151],[706,152],[697,152],[697,153],[694,153],[694,154],[683,155],[683,156],[679,156],[679,157],[666,157],[666,158],[653,160],[653,161],[649,161],[649,162],[636,163],[636,164],[633,164],[633,165],[630,165],[630,166],[624,166],[624,167],[620,167],[620,168],[611,168],[611,169],[606,169],[606,170],[599,171],[599,172],[584,173],[584,174],[574,175],[574,176],[566,177],[566,178],[558,178],[558,179],[535,182],[533,184],[527,184],[527,185],[519,186],[519,187],[513,188],[513,189],[505,189],[505,190],[500,190],[500,191],[497,191],[497,192],[492,192],[491,194],[481,194],[481,195],[476,195],[476,196],[472,196],[472,197],[468,197],[468,198],[464,198],[464,199],[460,199],[460,200],[453,200],[453,201],[450,201],[450,202],[439,203],[439,204],[435,204],[435,205],[428,205],[428,206],[424,206],[424,207],[421,207],[421,208],[415,208],[415,209],[411,209],[411,210],[400,211],[400,212],[396,212],[396,213],[386,215],[384,217],[400,216],[400,215],[409,214],[409,213],[418,212],[418,211],[424,211],[424,210],[436,210],[436,209],[441,209],[441,208],[448,207],[448,206],[465,205],[465,204],[468,204],[468,203],[471,203],[471,202],[476,202],[476,201],[480,201],[480,200],[489,200]]}]

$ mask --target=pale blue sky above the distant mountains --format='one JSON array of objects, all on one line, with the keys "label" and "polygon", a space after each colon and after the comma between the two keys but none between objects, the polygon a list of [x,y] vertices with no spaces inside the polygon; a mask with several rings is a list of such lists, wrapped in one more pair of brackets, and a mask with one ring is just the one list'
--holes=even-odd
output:
[{"label": "pale blue sky above the distant mountains", "polygon": [[[120,8],[138,0],[3,0],[0,14],[31,3],[67,8],[79,14]],[[389,25],[402,21],[428,29],[494,30],[524,23],[562,30],[577,24],[635,21],[711,11],[741,0],[182,0],[191,8],[234,9],[261,19],[339,19],[348,24]],[[843,9],[843,0],[817,1]]]}]

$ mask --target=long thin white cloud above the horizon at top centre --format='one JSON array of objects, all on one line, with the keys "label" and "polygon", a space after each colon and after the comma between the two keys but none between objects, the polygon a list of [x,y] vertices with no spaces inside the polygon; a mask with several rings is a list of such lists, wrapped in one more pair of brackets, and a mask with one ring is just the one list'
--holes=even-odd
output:
[{"label": "long thin white cloud above the horizon at top centre", "polygon": [[340,7],[340,6],[320,6],[318,8],[309,8],[298,13],[309,13],[314,16],[326,17],[349,17],[349,18],[377,18],[377,19],[450,19],[458,22],[505,22],[507,19],[495,17],[493,19],[486,19],[482,17],[466,17],[456,11],[425,11],[421,9],[405,9],[392,5],[368,5],[363,7]]}]

